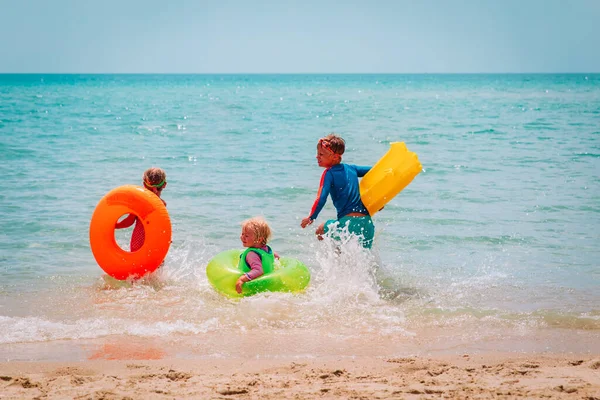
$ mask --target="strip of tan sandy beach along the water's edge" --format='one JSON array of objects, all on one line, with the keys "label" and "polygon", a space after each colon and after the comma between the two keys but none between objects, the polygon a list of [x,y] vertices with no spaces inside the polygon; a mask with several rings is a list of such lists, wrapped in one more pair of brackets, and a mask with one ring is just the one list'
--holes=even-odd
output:
[{"label": "strip of tan sandy beach along the water's edge", "polygon": [[600,399],[600,357],[4,362],[1,399]]}]

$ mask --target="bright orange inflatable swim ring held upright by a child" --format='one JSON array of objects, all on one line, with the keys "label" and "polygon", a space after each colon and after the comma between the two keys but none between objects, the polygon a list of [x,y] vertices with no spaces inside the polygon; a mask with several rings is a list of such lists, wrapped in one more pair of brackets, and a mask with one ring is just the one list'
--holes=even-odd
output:
[{"label": "bright orange inflatable swim ring held upright by a child", "polygon": [[[115,224],[125,214],[135,214],[144,224],[144,244],[135,252],[123,250],[115,240]],[[141,186],[111,190],[94,210],[90,246],[100,268],[113,278],[139,278],[153,272],[167,256],[170,245],[171,219],[167,208],[157,195]]]}]

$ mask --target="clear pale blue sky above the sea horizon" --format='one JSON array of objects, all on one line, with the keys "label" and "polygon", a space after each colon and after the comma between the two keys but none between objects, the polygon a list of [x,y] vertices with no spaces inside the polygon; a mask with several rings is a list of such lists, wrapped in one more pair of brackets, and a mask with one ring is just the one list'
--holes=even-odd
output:
[{"label": "clear pale blue sky above the sea horizon", "polygon": [[0,0],[0,72],[600,72],[600,0]]}]

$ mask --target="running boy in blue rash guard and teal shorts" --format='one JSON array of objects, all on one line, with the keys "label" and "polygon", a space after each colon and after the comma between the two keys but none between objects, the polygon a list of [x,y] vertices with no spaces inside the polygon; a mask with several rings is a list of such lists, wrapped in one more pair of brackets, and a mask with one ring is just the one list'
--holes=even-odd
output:
[{"label": "running boy in blue rash guard and teal shorts", "polygon": [[331,200],[337,210],[337,220],[328,220],[319,225],[315,231],[319,240],[323,240],[322,235],[333,228],[332,224],[338,222],[338,229],[348,224],[348,231],[357,235],[364,247],[371,248],[375,226],[360,198],[358,185],[358,178],[365,176],[371,167],[343,164],[342,154],[345,149],[344,139],[336,134],[332,133],[319,139],[317,162],[319,167],[325,168],[325,171],[321,175],[317,199],[310,215],[302,220],[300,226],[305,228],[317,219],[327,201],[327,196],[331,194]]}]

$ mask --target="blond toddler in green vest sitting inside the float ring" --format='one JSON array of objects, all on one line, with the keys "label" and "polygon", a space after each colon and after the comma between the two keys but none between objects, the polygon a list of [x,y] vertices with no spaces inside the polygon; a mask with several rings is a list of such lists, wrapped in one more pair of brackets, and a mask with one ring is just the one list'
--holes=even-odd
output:
[{"label": "blond toddler in green vest sitting inside the float ring", "polygon": [[242,293],[242,285],[264,274],[273,272],[275,258],[279,255],[267,242],[271,238],[271,228],[261,217],[254,217],[242,222],[240,240],[246,251],[240,256],[238,268],[244,272],[235,283],[235,291]]}]

